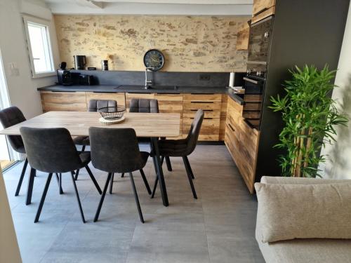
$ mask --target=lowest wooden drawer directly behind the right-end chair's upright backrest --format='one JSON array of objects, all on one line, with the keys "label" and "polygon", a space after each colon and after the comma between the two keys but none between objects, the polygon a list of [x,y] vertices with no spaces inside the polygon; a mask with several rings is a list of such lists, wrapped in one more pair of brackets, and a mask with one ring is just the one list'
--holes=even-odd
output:
[{"label": "lowest wooden drawer directly behind the right-end chair's upright backrest", "polygon": [[[183,137],[187,137],[193,118],[183,118]],[[219,140],[220,119],[204,119],[202,121],[199,140],[218,141]]]}]

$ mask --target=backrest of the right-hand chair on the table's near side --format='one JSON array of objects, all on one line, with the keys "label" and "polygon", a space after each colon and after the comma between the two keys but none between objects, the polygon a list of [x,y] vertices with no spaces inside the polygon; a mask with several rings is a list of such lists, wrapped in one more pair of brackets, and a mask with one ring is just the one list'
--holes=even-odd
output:
[{"label": "backrest of the right-hand chair on the table's near side", "polygon": [[135,130],[89,128],[91,162],[107,173],[129,173],[143,168]]}]

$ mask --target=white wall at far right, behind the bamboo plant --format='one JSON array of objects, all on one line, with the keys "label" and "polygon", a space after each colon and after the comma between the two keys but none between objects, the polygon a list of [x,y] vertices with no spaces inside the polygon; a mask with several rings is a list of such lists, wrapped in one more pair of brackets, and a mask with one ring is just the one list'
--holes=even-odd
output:
[{"label": "white wall at far right, behind the bamboo plant", "polygon": [[[333,91],[333,98],[338,101],[340,111],[351,117],[351,6],[338,63],[336,85],[339,88]],[[351,179],[351,121],[347,127],[338,128],[336,142],[326,147],[322,154],[328,154],[330,159],[325,165],[319,166],[324,177]]]}]

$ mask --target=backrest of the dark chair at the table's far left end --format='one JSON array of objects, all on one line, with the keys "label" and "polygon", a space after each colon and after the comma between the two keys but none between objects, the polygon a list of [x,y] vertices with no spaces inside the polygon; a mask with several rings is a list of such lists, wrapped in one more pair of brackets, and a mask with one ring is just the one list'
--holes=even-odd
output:
[{"label": "backrest of the dark chair at the table's far left end", "polygon": [[[0,111],[0,122],[4,128],[8,128],[25,120],[25,116],[18,107],[9,107]],[[8,141],[15,151],[23,147],[23,141],[19,135],[8,135]]]}]

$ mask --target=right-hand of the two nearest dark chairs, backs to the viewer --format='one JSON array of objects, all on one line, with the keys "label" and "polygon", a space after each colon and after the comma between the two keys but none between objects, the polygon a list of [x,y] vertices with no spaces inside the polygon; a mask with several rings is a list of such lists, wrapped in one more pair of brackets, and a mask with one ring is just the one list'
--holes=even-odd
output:
[{"label": "right-hand of the two nearest dark chairs, backs to the viewer", "polygon": [[[92,127],[89,128],[89,137],[91,140],[91,162],[93,166],[108,173],[94,222],[98,221],[107,187],[111,182],[112,173],[129,173],[140,221],[144,223],[133,172],[135,170],[143,170],[150,154],[146,151],[140,151],[135,130],[132,128]],[[144,173],[141,173],[141,176],[150,194],[150,187]]]}]

